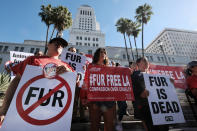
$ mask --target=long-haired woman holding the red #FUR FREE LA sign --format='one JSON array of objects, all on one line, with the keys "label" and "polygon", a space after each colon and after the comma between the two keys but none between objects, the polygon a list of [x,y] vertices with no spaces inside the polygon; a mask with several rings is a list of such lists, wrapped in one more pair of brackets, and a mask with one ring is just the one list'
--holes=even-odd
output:
[{"label": "long-haired woman holding the red #FUR FREE LA sign", "polygon": [[[98,48],[94,53],[93,65],[107,66],[109,64],[107,52],[104,48]],[[81,90],[81,100],[83,105],[88,105],[90,114],[90,130],[99,131],[101,115],[104,117],[104,131],[114,130],[114,116],[116,106],[114,101],[87,101],[87,75],[85,75],[84,86]]]}]

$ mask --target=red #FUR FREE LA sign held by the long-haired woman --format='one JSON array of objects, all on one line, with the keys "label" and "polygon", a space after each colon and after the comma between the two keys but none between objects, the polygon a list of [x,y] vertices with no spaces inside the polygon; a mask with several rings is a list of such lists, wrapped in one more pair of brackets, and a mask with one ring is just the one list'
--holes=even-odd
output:
[{"label": "red #FUR FREE LA sign held by the long-haired woman", "polygon": [[88,100],[134,100],[130,75],[129,68],[89,65],[85,75]]}]

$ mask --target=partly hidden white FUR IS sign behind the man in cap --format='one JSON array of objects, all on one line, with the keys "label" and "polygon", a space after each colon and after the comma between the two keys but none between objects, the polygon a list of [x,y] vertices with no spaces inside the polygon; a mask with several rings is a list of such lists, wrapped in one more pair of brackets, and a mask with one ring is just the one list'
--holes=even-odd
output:
[{"label": "partly hidden white FUR IS sign behind the man in cap", "polygon": [[84,73],[85,56],[64,49],[61,54],[61,60],[68,63],[76,72]]}]

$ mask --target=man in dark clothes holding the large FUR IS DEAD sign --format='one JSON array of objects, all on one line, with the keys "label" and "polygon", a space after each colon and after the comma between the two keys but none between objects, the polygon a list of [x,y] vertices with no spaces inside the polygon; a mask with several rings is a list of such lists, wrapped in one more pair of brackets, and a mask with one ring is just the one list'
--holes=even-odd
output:
[{"label": "man in dark clothes holding the large FUR IS DEAD sign", "polygon": [[135,101],[133,102],[134,117],[143,122],[146,131],[168,131],[168,126],[159,125],[155,126],[152,122],[152,116],[148,105],[149,91],[145,87],[143,73],[146,73],[149,68],[147,58],[142,57],[137,59],[137,71],[131,75],[133,93]]}]

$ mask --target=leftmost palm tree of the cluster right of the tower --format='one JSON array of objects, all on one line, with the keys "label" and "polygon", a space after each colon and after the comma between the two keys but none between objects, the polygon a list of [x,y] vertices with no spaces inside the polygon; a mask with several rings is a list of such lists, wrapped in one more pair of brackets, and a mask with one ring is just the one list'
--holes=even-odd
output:
[{"label": "leftmost palm tree of the cluster right of the tower", "polygon": [[127,42],[126,42],[126,30],[128,29],[128,21],[125,18],[120,18],[117,22],[116,25],[117,31],[123,34],[124,36],[124,41],[125,41],[125,47],[126,47],[126,53],[127,53],[127,59],[129,63],[129,54],[128,54],[128,49],[127,49]]}]

